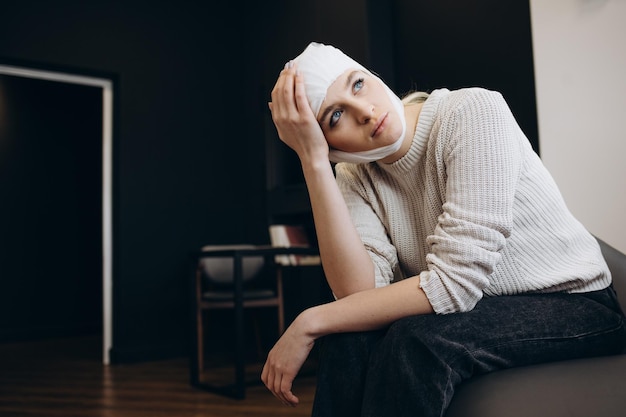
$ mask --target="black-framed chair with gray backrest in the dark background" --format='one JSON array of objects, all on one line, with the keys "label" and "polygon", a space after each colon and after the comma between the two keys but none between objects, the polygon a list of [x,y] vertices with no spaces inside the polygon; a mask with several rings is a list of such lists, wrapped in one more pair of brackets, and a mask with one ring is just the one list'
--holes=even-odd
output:
[{"label": "black-framed chair with gray backrest in the dark background", "polygon": [[[192,352],[190,363],[191,385],[236,399],[245,398],[245,331],[244,310],[276,308],[278,335],[285,328],[282,289],[284,266],[276,263],[281,255],[316,255],[310,247],[272,247],[254,245],[205,246],[192,254]],[[275,277],[271,285],[253,285],[261,272]],[[207,315],[211,310],[233,311],[235,328],[235,377],[233,384],[216,385],[207,382],[204,358],[205,343],[210,335],[205,331]],[[256,378],[255,383],[260,379]]]}]

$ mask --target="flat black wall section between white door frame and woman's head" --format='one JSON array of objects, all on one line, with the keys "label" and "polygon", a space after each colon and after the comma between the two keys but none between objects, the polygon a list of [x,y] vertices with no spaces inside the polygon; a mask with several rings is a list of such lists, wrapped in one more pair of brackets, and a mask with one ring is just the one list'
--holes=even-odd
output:
[{"label": "flat black wall section between white door frame and woman's head", "polygon": [[114,359],[185,351],[190,250],[267,241],[254,7],[3,4],[4,63],[116,80]]}]

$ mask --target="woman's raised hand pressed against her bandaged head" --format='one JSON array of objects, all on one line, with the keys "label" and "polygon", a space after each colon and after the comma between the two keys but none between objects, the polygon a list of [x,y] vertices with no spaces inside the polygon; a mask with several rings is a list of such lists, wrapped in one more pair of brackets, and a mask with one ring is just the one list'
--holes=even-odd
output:
[{"label": "woman's raised hand pressed against her bandaged head", "polygon": [[285,65],[272,90],[269,104],[280,139],[302,163],[328,162],[328,144],[306,97],[304,80],[293,62]]}]

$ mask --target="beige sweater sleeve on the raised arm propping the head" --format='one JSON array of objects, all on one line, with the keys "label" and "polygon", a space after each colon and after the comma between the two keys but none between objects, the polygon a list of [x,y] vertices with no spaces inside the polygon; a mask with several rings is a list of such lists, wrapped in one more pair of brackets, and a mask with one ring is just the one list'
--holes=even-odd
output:
[{"label": "beige sweater sleeve on the raised arm propping the head", "polygon": [[352,222],[374,264],[376,287],[383,287],[393,281],[398,255],[383,222],[374,210],[377,199],[373,195],[373,188],[363,183],[364,179],[357,175],[356,170],[353,164],[337,164],[337,184]]}]

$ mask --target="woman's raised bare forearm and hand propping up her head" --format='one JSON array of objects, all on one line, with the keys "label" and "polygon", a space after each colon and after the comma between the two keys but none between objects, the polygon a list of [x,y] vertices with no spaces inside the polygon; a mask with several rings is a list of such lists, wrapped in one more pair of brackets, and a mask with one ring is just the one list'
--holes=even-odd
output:
[{"label": "woman's raised bare forearm and hand propping up her head", "polygon": [[302,75],[289,64],[272,90],[280,139],[300,158],[326,279],[337,298],[374,287],[374,267],[352,223],[328,161],[328,144],[307,101]]}]

